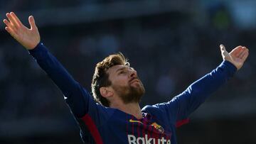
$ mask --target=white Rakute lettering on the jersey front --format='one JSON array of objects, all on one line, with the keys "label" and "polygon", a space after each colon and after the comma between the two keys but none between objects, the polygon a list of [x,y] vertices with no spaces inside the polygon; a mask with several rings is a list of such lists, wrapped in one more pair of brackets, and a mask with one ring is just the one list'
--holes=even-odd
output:
[{"label": "white Rakute lettering on the jersey front", "polygon": [[136,138],[134,135],[127,135],[129,144],[171,144],[170,140],[166,140],[164,137],[159,138],[148,138],[148,135],[144,137]]}]

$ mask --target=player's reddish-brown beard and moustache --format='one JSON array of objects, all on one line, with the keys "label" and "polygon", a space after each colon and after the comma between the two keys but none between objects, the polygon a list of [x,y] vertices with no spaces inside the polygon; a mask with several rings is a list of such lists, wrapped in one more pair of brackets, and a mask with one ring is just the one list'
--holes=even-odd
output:
[{"label": "player's reddish-brown beard and moustache", "polygon": [[112,87],[124,104],[139,103],[145,93],[144,86],[140,80],[134,84],[134,86],[132,86],[132,84],[128,84],[127,86],[117,86],[112,84]]}]

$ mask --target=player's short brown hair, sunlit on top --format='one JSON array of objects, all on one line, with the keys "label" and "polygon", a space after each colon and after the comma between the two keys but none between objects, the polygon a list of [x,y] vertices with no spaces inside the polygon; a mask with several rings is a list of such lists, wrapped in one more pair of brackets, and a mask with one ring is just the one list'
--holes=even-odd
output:
[{"label": "player's short brown hair, sunlit on top", "polygon": [[108,87],[111,85],[107,70],[114,65],[129,66],[129,62],[121,52],[109,55],[102,60],[102,62],[97,63],[95,73],[92,77],[92,95],[95,101],[99,102],[103,106],[110,106],[110,101],[100,94],[100,87]]}]

